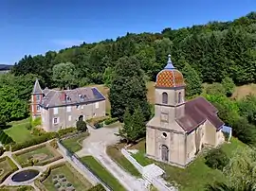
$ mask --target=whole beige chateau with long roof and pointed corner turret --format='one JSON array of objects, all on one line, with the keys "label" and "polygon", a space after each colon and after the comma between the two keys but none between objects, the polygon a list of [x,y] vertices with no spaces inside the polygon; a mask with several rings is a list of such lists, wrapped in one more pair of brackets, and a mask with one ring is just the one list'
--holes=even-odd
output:
[{"label": "whole beige chateau with long roof and pointed corner turret", "polygon": [[57,131],[75,127],[76,122],[105,115],[105,97],[94,87],[74,90],[42,90],[36,79],[31,94],[33,119],[41,117],[42,128]]}]

